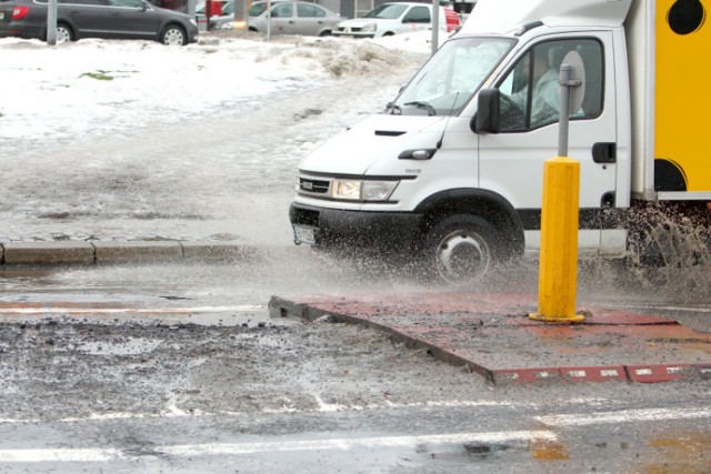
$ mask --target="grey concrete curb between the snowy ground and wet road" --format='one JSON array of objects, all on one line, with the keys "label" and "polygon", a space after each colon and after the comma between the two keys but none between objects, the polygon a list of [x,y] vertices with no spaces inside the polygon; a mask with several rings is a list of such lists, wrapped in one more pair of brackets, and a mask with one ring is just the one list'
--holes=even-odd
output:
[{"label": "grey concrete curb between the snowy ground and wet road", "polygon": [[264,252],[236,241],[3,242],[0,243],[0,265],[230,263],[258,258]]}]

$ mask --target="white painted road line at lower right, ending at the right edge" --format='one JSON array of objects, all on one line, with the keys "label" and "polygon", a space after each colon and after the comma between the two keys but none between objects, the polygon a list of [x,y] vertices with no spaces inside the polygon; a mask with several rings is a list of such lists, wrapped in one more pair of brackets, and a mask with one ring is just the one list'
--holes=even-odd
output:
[{"label": "white painted road line at lower right, ending at the right edge", "polygon": [[647,409],[535,417],[535,420],[548,426],[588,426],[610,423],[690,418],[711,418],[711,409]]}]

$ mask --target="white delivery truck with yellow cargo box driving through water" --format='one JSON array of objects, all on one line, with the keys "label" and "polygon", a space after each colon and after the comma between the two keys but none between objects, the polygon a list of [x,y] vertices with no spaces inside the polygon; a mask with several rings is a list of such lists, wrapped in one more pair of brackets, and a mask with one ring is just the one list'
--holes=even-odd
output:
[{"label": "white delivery truck with yellow cargo box driving through water", "polygon": [[571,51],[584,65],[568,143],[579,250],[622,256],[631,231],[650,231],[648,208],[708,232],[704,19],[700,2],[480,0],[387,110],[301,161],[294,241],[400,250],[454,282],[537,254]]}]

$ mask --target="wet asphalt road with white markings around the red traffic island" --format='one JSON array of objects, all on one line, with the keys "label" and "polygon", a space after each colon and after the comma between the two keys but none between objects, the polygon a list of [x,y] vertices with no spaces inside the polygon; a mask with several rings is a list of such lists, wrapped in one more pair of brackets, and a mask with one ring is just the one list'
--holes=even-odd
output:
[{"label": "wet asphalt road with white markings around the red traffic island", "polygon": [[708,472],[708,381],[494,389],[370,330],[270,320],[276,293],[418,290],[283,252],[4,271],[0,472]]}]

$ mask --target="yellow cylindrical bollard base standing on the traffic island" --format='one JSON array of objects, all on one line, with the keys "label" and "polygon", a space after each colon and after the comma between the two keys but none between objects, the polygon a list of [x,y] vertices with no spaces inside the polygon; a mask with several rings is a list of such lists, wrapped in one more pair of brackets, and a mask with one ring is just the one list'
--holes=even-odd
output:
[{"label": "yellow cylindrical bollard base standing on the traffic island", "polygon": [[580,162],[568,157],[545,161],[541,215],[538,313],[545,322],[583,321],[575,314]]}]

